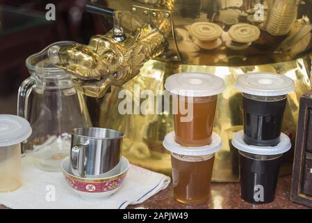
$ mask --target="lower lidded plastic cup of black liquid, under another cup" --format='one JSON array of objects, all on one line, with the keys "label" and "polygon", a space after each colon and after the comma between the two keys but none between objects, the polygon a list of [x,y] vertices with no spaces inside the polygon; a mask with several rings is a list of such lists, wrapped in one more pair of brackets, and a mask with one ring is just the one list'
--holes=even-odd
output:
[{"label": "lower lidded plastic cup of black liquid, under another cup", "polygon": [[282,133],[277,146],[250,146],[243,137],[241,130],[232,140],[239,153],[240,197],[249,203],[270,203],[275,197],[281,157],[291,147],[290,139]]}]

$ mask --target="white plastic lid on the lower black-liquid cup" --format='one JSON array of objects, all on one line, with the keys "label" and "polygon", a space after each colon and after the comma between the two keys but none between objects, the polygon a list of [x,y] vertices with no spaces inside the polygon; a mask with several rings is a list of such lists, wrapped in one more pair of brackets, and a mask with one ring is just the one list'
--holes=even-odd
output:
[{"label": "white plastic lid on the lower black-liquid cup", "polygon": [[232,144],[239,151],[243,151],[246,153],[252,153],[257,155],[277,155],[281,153],[286,153],[291,148],[291,143],[289,137],[281,133],[281,138],[279,144],[277,146],[252,146],[245,143],[244,138],[244,130],[240,130],[236,132],[232,139]]}]

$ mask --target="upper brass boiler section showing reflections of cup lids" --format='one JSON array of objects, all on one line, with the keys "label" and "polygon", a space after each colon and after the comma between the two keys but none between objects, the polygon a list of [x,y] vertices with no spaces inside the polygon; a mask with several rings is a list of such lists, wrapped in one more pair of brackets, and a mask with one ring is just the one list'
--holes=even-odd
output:
[{"label": "upper brass boiler section showing reflections of cup lids", "polygon": [[126,32],[147,22],[172,24],[161,61],[249,66],[292,61],[311,50],[312,0],[253,2],[108,0],[107,6],[122,10]]}]

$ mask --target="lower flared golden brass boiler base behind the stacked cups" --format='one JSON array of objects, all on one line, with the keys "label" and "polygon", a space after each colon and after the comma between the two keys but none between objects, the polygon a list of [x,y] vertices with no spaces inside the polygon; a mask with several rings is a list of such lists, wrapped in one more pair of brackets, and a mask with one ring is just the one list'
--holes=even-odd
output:
[{"label": "lower flared golden brass boiler base behind the stacked cups", "polygon": [[[290,136],[295,145],[295,132],[299,96],[309,91],[310,63],[308,57],[283,63],[272,63],[261,66],[192,66],[172,65],[161,61],[148,61],[141,69],[140,75],[122,86],[114,87],[111,93],[104,96],[101,104],[99,125],[124,132],[123,155],[133,164],[171,174],[170,154],[162,146],[162,139],[167,132],[174,130],[172,114],[124,114],[118,112],[119,103],[124,98],[118,98],[122,89],[134,94],[133,86],[138,84],[140,90],[151,89],[154,93],[162,90],[165,78],[176,72],[208,72],[224,79],[226,89],[217,100],[217,112],[213,131],[220,134],[223,147],[215,155],[213,181],[233,182],[238,180],[237,150],[231,146],[233,133],[243,129],[242,98],[240,92],[233,87],[238,75],[245,72],[277,72],[295,81],[295,92],[288,95],[288,103],[284,116],[283,132]],[[133,99],[134,100],[134,99]],[[134,101],[133,101],[134,105]],[[98,109],[93,107],[92,109]],[[291,173],[293,164],[293,148],[284,155],[281,175]]]}]

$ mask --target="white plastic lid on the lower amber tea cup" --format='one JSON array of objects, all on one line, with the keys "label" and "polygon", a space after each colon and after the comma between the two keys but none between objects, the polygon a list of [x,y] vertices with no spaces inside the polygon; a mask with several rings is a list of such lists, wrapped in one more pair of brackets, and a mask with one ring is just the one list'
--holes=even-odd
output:
[{"label": "white plastic lid on the lower amber tea cup", "polygon": [[180,155],[209,155],[217,152],[222,148],[222,140],[218,134],[213,132],[212,142],[208,146],[199,146],[199,147],[185,147],[180,146],[174,140],[174,131],[166,134],[165,139],[163,139],[163,146],[172,153]]}]

